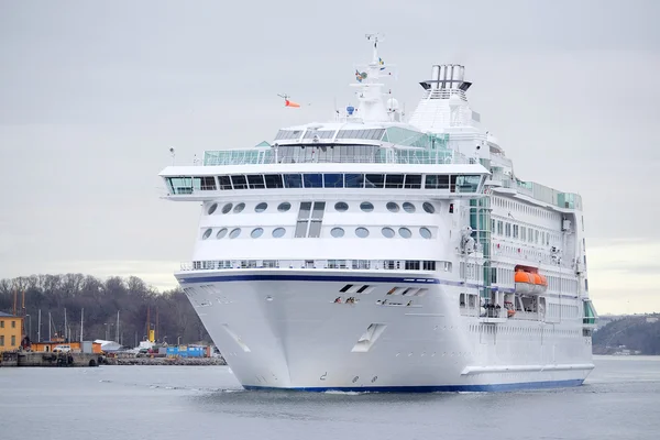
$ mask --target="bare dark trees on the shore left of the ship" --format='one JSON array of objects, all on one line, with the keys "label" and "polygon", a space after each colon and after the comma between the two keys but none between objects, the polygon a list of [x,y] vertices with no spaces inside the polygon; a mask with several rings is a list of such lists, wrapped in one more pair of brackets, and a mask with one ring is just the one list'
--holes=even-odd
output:
[{"label": "bare dark trees on the shore left of the ship", "polygon": [[211,341],[182,289],[160,293],[136,276],[101,280],[65,274],[0,279],[0,311],[14,314],[14,305],[15,314],[25,317],[25,334],[32,341],[37,341],[40,331],[42,341],[48,334],[79,341],[81,318],[86,341],[119,339],[122,345],[134,346],[150,328],[158,342],[168,344]]}]

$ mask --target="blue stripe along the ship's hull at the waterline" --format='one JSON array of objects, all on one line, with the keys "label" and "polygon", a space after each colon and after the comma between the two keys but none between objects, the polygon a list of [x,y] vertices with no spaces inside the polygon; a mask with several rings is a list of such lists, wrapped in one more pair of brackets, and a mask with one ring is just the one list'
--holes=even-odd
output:
[{"label": "blue stripe along the ship's hull at the waterline", "polygon": [[330,387],[293,387],[275,388],[268,386],[244,385],[250,391],[296,391],[296,392],[343,392],[343,393],[485,393],[485,392],[515,392],[520,389],[564,388],[580,386],[584,380],[546,382],[520,382],[515,384],[491,385],[419,385],[419,386],[330,386]]}]

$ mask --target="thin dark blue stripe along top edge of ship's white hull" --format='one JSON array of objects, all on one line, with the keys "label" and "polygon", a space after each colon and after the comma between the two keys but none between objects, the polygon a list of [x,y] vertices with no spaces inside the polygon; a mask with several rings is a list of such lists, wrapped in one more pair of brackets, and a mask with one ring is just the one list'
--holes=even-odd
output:
[{"label": "thin dark blue stripe along top edge of ship's white hull", "polygon": [[[408,283],[408,284],[441,284],[454,287],[482,288],[484,285],[461,282],[452,282],[449,279],[438,278],[414,278],[414,277],[392,277],[392,276],[332,276],[332,275],[285,275],[285,274],[253,274],[253,275],[213,275],[200,277],[180,278],[179,283],[229,283],[229,282],[344,282],[344,283]],[[495,290],[514,293],[514,289],[495,287]],[[560,297],[557,294],[544,294],[547,297]],[[574,295],[561,295],[562,298],[578,298]]]}]

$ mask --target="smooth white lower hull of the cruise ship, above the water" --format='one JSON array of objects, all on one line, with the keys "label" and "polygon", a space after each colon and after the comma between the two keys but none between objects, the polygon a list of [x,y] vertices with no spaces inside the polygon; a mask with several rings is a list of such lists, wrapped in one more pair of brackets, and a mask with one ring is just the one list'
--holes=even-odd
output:
[{"label": "smooth white lower hull of the cruise ship, above the water", "polygon": [[[487,323],[459,312],[455,283],[428,274],[256,270],[177,278],[245,388],[508,391],[580,385],[593,369],[580,320]],[[340,293],[348,284],[374,288]],[[410,301],[387,295],[393,287],[428,292]],[[356,348],[371,324],[380,334]]]}]

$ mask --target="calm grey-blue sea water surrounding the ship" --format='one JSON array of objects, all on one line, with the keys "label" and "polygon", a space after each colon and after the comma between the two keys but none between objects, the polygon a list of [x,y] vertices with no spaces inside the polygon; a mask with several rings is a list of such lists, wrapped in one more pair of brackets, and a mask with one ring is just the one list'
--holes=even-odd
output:
[{"label": "calm grey-blue sea water surrounding the ship", "polygon": [[0,439],[660,439],[660,356],[595,363],[576,388],[405,395],[245,392],[224,366],[0,369]]}]

